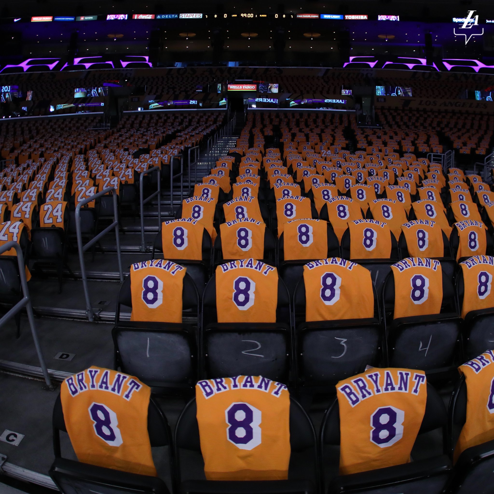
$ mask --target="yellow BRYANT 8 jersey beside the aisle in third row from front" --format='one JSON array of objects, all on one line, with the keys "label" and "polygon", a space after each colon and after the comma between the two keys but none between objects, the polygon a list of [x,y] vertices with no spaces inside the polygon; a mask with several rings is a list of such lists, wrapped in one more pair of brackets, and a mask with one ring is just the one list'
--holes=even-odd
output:
[{"label": "yellow BRYANT 8 jersey beside the aisle in third row from front", "polygon": [[165,259],[203,260],[204,225],[197,219],[164,221],[161,229]]}]

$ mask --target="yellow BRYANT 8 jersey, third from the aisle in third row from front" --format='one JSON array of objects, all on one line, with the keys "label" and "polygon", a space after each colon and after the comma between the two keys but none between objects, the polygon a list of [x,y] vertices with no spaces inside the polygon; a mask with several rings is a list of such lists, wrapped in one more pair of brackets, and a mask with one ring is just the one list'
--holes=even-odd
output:
[{"label": "yellow BRYANT 8 jersey, third from the aisle in third row from front", "polygon": [[283,249],[286,261],[323,259],[328,255],[328,224],[319,219],[295,219],[285,223]]}]

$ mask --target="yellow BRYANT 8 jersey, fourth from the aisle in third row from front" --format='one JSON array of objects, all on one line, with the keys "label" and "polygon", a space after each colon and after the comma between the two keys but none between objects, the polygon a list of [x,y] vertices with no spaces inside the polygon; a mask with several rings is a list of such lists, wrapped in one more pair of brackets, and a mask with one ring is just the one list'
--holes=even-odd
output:
[{"label": "yellow BRYANT 8 jersey, fourth from the aisle in third row from front", "polygon": [[348,222],[350,259],[389,259],[391,230],[386,223],[375,219]]}]

